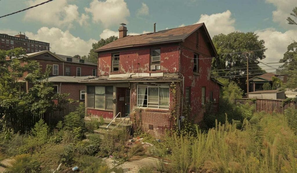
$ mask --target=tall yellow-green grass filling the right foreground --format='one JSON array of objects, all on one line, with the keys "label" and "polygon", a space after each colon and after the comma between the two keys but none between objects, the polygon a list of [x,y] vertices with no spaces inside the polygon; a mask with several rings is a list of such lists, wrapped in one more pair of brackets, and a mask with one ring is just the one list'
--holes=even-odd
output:
[{"label": "tall yellow-green grass filling the right foreground", "polygon": [[255,114],[220,124],[197,137],[173,135],[168,148],[176,172],[297,172],[297,137],[282,114]]}]

